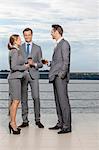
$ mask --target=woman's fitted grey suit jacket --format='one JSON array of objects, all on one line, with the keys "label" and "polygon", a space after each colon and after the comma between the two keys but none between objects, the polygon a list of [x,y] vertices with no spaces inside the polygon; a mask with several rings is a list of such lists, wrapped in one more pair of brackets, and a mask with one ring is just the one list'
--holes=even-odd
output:
[{"label": "woman's fitted grey suit jacket", "polygon": [[9,66],[10,73],[8,79],[22,78],[26,67],[24,65],[25,61],[22,57],[21,51],[19,49],[13,48],[9,51]]}]

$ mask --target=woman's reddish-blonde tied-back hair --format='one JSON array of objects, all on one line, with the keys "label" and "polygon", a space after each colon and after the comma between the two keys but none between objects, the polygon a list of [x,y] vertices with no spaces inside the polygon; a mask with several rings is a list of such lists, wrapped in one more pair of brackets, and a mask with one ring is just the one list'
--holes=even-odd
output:
[{"label": "woman's reddish-blonde tied-back hair", "polygon": [[8,49],[11,50],[13,49],[13,46],[15,44],[15,41],[17,41],[19,35],[18,34],[13,34],[9,38],[9,43],[8,43]]}]

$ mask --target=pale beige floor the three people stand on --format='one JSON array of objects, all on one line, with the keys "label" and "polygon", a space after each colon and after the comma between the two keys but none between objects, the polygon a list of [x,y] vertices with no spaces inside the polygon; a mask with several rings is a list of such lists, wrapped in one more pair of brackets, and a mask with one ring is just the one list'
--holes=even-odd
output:
[{"label": "pale beige floor the three people stand on", "polygon": [[[30,126],[20,135],[10,135],[9,117],[3,111],[0,110],[0,150],[99,150],[99,114],[73,113],[72,133],[64,135],[48,130],[57,122],[55,114],[42,114],[44,129],[38,129],[33,114],[29,114]],[[21,121],[18,113],[18,124]]]}]

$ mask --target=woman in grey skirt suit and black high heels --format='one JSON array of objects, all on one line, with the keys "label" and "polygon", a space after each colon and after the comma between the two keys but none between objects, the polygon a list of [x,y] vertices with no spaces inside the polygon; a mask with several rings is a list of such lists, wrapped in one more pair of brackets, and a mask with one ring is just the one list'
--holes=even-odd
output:
[{"label": "woman in grey skirt suit and black high heels", "polygon": [[21,38],[19,35],[14,34],[9,39],[8,49],[9,51],[9,65],[10,74],[8,76],[9,83],[9,95],[12,100],[10,106],[10,123],[9,131],[13,134],[20,134],[20,129],[16,124],[16,112],[21,100],[21,80],[24,75],[24,71],[29,68],[29,64],[24,64],[24,59],[21,55],[19,46],[21,45]]}]

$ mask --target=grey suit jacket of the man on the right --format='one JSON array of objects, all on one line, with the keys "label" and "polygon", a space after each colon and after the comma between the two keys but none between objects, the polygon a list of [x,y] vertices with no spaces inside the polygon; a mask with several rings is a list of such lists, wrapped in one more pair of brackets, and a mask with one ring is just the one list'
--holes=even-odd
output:
[{"label": "grey suit jacket of the man on the right", "polygon": [[66,78],[69,81],[70,71],[70,45],[62,39],[54,49],[51,68],[49,71],[49,81],[53,82],[55,76],[58,75],[60,78]]}]

